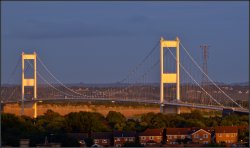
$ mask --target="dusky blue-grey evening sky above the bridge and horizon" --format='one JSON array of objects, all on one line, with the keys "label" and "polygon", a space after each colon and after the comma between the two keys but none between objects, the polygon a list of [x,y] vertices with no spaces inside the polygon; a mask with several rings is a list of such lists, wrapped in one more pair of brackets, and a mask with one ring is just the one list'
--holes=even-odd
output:
[{"label": "dusky blue-grey evening sky above the bridge and horizon", "polygon": [[161,36],[178,36],[196,59],[200,45],[210,45],[208,71],[215,81],[249,81],[248,2],[1,4],[1,83],[8,82],[21,52],[34,50],[63,83],[116,82]]}]

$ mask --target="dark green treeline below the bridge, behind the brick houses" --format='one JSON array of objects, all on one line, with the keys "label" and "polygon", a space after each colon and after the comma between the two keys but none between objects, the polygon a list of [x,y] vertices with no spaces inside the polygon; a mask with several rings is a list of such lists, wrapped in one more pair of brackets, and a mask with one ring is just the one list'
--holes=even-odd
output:
[{"label": "dark green treeline below the bridge, behind the brick houses", "polygon": [[60,142],[61,146],[79,146],[76,139],[66,133],[91,133],[108,131],[137,131],[147,128],[166,127],[216,127],[249,124],[248,115],[226,117],[204,117],[198,110],[180,115],[147,113],[134,119],[126,119],[119,112],[110,111],[107,116],[97,112],[72,112],[65,116],[48,110],[36,119],[28,116],[1,114],[2,145],[19,146],[20,139],[30,139],[30,146],[49,142]]}]

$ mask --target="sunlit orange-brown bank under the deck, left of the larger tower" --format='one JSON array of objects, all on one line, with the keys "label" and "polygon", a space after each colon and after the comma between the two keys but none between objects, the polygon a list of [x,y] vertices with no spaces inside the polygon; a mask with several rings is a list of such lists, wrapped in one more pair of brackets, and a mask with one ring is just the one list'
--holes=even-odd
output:
[{"label": "sunlit orange-brown bank under the deck, left of the larger tower", "polygon": [[[32,105],[25,105],[24,114],[27,116],[33,115]],[[117,111],[122,113],[127,118],[138,116],[148,112],[159,113],[160,109],[157,105],[148,104],[121,104],[121,103],[102,103],[102,102],[57,102],[57,103],[38,103],[37,114],[42,115],[48,109],[58,112],[61,115],[66,115],[70,112],[88,111],[99,112],[106,116],[109,111]],[[20,104],[7,104],[3,108],[3,112],[20,115]]]}]

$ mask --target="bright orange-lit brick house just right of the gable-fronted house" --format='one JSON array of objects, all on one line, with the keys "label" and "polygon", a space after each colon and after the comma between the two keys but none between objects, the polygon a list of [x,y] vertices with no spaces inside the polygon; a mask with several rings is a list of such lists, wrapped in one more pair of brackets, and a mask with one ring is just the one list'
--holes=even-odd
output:
[{"label": "bright orange-lit brick house just right of the gable-fronted house", "polygon": [[237,126],[218,126],[215,128],[216,143],[235,144],[238,141]]}]

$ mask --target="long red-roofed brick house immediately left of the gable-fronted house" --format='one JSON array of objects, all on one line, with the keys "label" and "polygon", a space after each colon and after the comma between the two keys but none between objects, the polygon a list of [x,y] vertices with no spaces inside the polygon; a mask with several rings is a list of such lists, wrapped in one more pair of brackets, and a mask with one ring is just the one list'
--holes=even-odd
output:
[{"label": "long red-roofed brick house immediately left of the gable-fronted house", "polygon": [[185,143],[191,141],[191,128],[167,128],[167,144]]}]

